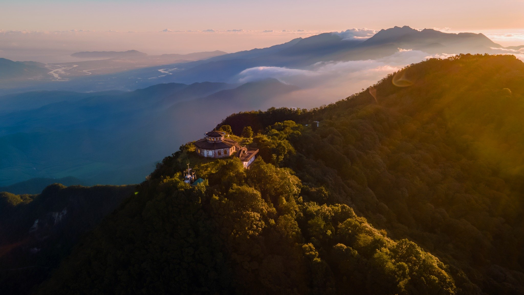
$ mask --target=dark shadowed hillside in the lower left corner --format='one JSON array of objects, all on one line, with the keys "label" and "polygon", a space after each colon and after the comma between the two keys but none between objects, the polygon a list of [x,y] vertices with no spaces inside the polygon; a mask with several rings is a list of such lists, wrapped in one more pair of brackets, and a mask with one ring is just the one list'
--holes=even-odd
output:
[{"label": "dark shadowed hillside in the lower left corner", "polygon": [[135,190],[52,184],[38,195],[0,192],[0,289],[26,294],[69,255],[80,237]]}]

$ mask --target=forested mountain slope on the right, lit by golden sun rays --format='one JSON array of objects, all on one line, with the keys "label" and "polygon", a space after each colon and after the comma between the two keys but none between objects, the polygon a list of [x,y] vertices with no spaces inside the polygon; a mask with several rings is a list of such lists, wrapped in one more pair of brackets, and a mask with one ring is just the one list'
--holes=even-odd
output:
[{"label": "forested mountain slope on the right, lit by golden sun rays", "polygon": [[[296,155],[280,164],[326,189],[313,201],[348,204],[464,271],[454,276],[464,293],[522,294],[523,81],[524,64],[514,56],[409,66],[326,108],[290,112],[320,127],[290,138]],[[242,130],[243,122],[285,120],[238,116],[223,123]],[[255,141],[275,146],[269,139]],[[271,161],[271,153],[260,154]]]}]

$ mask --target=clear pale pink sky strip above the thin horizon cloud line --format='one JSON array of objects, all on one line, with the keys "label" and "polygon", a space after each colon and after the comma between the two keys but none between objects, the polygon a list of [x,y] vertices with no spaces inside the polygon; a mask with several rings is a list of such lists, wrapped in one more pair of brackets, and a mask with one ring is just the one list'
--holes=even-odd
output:
[{"label": "clear pale pink sky strip above the thin horizon cloud line", "polygon": [[524,28],[523,0],[1,0],[4,30]]}]

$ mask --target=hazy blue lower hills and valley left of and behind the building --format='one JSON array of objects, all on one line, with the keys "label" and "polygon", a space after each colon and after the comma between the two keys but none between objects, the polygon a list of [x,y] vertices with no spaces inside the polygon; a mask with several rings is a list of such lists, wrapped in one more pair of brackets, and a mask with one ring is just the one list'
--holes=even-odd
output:
[{"label": "hazy blue lower hills and valley left of and behind the building", "polygon": [[[64,176],[84,183],[138,183],[162,155],[198,139],[226,115],[267,109],[272,98],[296,89],[268,79],[0,97],[12,110],[0,113],[0,154],[5,155],[0,158],[0,185]],[[38,100],[36,106],[27,103],[32,99]],[[15,101],[21,103],[16,106]]]}]

